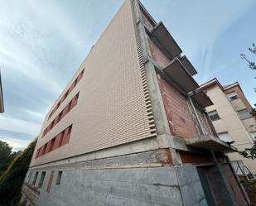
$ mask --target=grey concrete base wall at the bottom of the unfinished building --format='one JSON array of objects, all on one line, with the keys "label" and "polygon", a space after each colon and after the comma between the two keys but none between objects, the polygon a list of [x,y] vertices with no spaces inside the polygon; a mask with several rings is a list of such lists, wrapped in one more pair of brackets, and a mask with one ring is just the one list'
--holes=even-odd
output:
[{"label": "grey concrete base wall at the bottom of the unfinished building", "polygon": [[37,206],[207,205],[194,166],[65,170],[60,184],[55,172],[46,193],[50,174],[48,170]]}]

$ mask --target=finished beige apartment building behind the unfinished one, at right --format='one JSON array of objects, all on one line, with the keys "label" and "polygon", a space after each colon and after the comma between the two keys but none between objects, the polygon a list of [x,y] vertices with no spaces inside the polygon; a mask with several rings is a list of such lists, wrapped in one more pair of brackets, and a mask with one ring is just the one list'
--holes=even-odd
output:
[{"label": "finished beige apartment building behind the unfinished one, at right", "polygon": [[[201,89],[205,90],[214,103],[206,108],[206,111],[220,139],[229,142],[234,141],[232,146],[238,148],[239,151],[252,147],[256,137],[256,121],[255,117],[250,114],[252,106],[245,98],[239,83],[222,86],[218,79],[212,79],[202,84]],[[239,153],[230,153],[229,159],[239,160],[240,165],[241,160],[243,160],[244,165],[256,175],[256,160],[243,158]],[[242,171],[238,166],[234,162],[235,170],[237,169],[238,174],[241,174]],[[248,170],[244,168],[244,172],[247,173]]]}]

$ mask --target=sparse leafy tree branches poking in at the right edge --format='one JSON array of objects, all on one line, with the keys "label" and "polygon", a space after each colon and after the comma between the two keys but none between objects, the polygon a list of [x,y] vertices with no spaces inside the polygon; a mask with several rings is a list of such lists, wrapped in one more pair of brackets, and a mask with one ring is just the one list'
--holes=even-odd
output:
[{"label": "sparse leafy tree branches poking in at the right edge", "polygon": [[[249,48],[249,51],[256,55],[256,46],[253,44],[252,48]],[[249,68],[250,69],[256,69],[256,65],[254,61],[248,60],[246,55],[241,54],[241,58],[246,60],[249,64]],[[254,89],[256,92],[256,89]],[[256,103],[254,104],[254,106],[256,107]],[[253,108],[251,111],[251,114],[256,117],[256,108]],[[254,139],[254,145],[251,148],[245,148],[245,151],[241,151],[239,152],[240,155],[244,156],[245,158],[249,158],[249,159],[256,159],[256,139]]]}]

